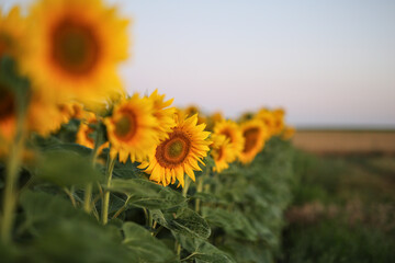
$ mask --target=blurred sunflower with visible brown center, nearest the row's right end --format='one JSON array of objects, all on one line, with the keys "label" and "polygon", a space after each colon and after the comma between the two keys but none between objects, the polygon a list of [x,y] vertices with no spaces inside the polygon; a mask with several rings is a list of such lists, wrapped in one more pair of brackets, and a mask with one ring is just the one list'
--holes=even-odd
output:
[{"label": "blurred sunflower with visible brown center, nearest the row's right end", "polygon": [[239,160],[249,163],[262,150],[268,130],[259,119],[250,119],[241,124],[241,133],[245,144]]}]

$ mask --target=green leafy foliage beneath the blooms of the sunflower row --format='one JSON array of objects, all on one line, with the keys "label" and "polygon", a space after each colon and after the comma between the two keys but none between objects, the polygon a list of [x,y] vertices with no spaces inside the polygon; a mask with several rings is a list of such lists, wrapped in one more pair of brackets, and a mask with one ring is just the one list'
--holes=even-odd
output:
[{"label": "green leafy foliage beneath the blooms of the sunflower row", "polygon": [[[41,153],[20,176],[14,243],[0,244],[5,262],[273,262],[279,254],[291,199],[287,142],[274,138],[251,164],[234,163],[219,174],[206,158],[196,183],[182,193],[148,181],[129,161],[115,162],[108,184],[109,151],[93,165],[92,149],[72,142],[75,125],[33,137]],[[87,184],[93,185],[90,214],[82,210]]]}]

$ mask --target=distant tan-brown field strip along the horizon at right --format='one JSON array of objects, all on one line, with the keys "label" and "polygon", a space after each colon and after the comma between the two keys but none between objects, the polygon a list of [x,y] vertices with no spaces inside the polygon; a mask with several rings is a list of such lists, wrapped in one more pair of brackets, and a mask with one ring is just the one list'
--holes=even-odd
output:
[{"label": "distant tan-brown field strip along the horizon at right", "polygon": [[395,130],[298,130],[293,142],[315,153],[395,153]]}]

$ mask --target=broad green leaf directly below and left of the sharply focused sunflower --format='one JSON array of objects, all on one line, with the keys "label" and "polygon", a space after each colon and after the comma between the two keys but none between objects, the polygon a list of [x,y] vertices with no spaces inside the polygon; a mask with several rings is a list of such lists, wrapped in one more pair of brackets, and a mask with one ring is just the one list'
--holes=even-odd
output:
[{"label": "broad green leaf directly below and left of the sharply focused sunflower", "polygon": [[109,190],[126,194],[128,204],[148,209],[166,209],[187,204],[187,198],[179,192],[144,179],[114,179]]}]

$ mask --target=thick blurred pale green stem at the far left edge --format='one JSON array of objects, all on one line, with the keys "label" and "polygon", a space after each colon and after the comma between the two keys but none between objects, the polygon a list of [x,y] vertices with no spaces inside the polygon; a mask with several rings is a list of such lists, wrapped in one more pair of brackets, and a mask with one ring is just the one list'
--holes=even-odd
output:
[{"label": "thick blurred pale green stem at the far left edge", "polygon": [[25,141],[25,112],[19,111],[16,121],[16,133],[14,141],[10,149],[10,156],[7,162],[5,185],[3,195],[3,213],[1,218],[1,240],[2,242],[11,242],[11,233],[14,222],[15,206],[18,202],[16,183],[19,178],[19,167],[21,164],[22,151]]}]

